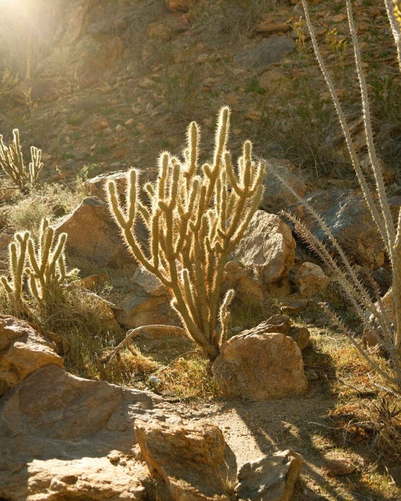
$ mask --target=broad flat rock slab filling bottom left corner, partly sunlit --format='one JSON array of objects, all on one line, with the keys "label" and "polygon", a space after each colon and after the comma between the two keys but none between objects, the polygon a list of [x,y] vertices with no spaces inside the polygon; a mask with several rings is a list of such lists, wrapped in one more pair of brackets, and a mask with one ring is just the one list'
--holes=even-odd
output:
[{"label": "broad flat rock slab filling bottom left corner, partly sunlit", "polygon": [[134,501],[148,473],[133,423],[178,418],[151,393],[37,370],[0,402],[0,497],[10,501]]}]

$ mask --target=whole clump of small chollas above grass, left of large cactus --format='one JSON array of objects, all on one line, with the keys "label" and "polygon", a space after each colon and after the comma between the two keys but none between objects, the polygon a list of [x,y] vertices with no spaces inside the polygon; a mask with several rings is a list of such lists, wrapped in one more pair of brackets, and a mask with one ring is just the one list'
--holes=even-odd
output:
[{"label": "whole clump of small chollas above grass, left of large cactus", "polygon": [[28,277],[29,292],[39,305],[45,305],[60,290],[60,286],[77,270],[66,272],[65,244],[67,234],[61,233],[56,239],[54,229],[44,218],[41,222],[38,242],[29,231],[16,233],[9,246],[10,276],[1,277],[9,301],[14,310],[27,313],[25,282]]}]

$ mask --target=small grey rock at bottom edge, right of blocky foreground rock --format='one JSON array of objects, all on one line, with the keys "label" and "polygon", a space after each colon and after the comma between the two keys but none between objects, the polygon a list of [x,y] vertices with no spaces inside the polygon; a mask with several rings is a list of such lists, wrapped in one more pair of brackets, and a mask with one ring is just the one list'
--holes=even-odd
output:
[{"label": "small grey rock at bottom edge, right of blocky foreground rock", "polygon": [[238,473],[238,497],[289,501],[302,464],[302,456],[291,449],[245,463]]}]

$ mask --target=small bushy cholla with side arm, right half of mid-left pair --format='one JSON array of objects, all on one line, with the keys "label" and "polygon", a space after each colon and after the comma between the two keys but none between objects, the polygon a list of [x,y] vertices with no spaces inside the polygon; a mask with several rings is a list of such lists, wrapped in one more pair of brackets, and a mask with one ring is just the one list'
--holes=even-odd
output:
[{"label": "small bushy cholla with side arm, right half of mid-left pair", "polygon": [[42,219],[38,243],[28,238],[30,267],[25,269],[29,277],[29,290],[38,303],[46,303],[60,289],[60,285],[75,272],[66,273],[65,243],[67,233],[61,233],[56,241],[49,221]]}]

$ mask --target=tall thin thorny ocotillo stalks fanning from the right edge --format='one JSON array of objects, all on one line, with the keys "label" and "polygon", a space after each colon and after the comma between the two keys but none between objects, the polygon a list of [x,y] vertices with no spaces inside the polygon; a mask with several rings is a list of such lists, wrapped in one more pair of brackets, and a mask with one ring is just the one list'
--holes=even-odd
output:
[{"label": "tall thin thorny ocotillo stalks fanning from the right edge", "polygon": [[[292,214],[284,212],[289,219],[291,219],[296,227],[297,232],[302,238],[305,239],[311,246],[311,248],[316,252],[316,254],[321,258],[321,260],[331,269],[334,277],[338,280],[348,298],[350,299],[352,305],[354,306],[359,317],[363,321],[365,327],[371,332],[371,334],[377,339],[377,341],[384,346],[386,351],[389,353],[390,358],[393,362],[393,369],[395,370],[396,376],[394,377],[391,369],[380,367],[370,356],[370,353],[363,348],[353,337],[352,333],[346,328],[343,322],[334,315],[334,313],[329,309],[327,304],[321,303],[323,309],[332,318],[335,324],[340,328],[340,330],[350,339],[350,341],[357,348],[358,352],[365,358],[368,363],[383,376],[386,381],[396,388],[399,392],[401,388],[401,209],[398,214],[398,220],[394,227],[393,218],[389,208],[389,204],[386,196],[386,188],[383,180],[383,173],[380,166],[380,162],[376,155],[376,150],[373,141],[373,132],[371,127],[370,118],[370,108],[367,93],[366,80],[362,71],[362,63],[359,52],[358,41],[355,32],[355,26],[351,11],[351,2],[347,0],[347,15],[349,30],[352,39],[352,45],[354,49],[355,56],[355,66],[358,75],[360,95],[362,101],[362,112],[363,112],[363,123],[365,129],[367,149],[370,159],[371,174],[374,178],[375,192],[369,187],[368,179],[363,169],[360,166],[358,156],[356,154],[353,141],[351,138],[350,129],[347,125],[347,121],[341,108],[340,102],[337,98],[336,91],[332,80],[329,76],[323,58],[320,54],[319,47],[317,45],[316,37],[313,31],[313,27],[310,21],[308,7],[305,0],[302,0],[305,19],[311,35],[311,40],[314,48],[314,52],[319,63],[321,72],[325,78],[326,84],[329,88],[331,97],[334,102],[334,106],[339,118],[339,122],[345,137],[347,148],[351,157],[352,165],[354,167],[356,176],[358,178],[359,184],[361,186],[362,192],[364,194],[366,204],[372,215],[372,218],[377,225],[377,229],[384,241],[388,258],[391,263],[392,268],[392,301],[393,301],[393,318],[394,321],[387,318],[387,315],[382,306],[380,297],[378,295],[378,305],[376,305],[371,299],[369,292],[362,285],[359,280],[357,273],[355,272],[352,265],[349,263],[341,244],[336,240],[332,234],[328,224],[321,217],[321,215],[310,205],[306,204],[305,201],[299,197],[299,195],[293,190],[293,188],[277,173],[274,172],[273,168],[268,165],[265,161],[265,165],[271,172],[273,172],[294,194],[298,200],[306,205],[306,208],[311,212],[311,214],[317,219],[321,227],[325,231],[326,235],[332,242],[338,258],[334,258],[330,250],[324,245],[315,235],[296,217]],[[389,2],[386,2],[386,6]],[[395,24],[395,18],[392,17],[392,9],[388,10],[389,20],[392,28],[392,33],[394,36],[395,44],[397,49],[399,49],[399,32],[394,27],[398,28]],[[398,54],[398,62],[400,53]],[[376,322],[375,324],[379,326],[379,329],[375,328],[369,322],[369,316],[373,315]]]}]

